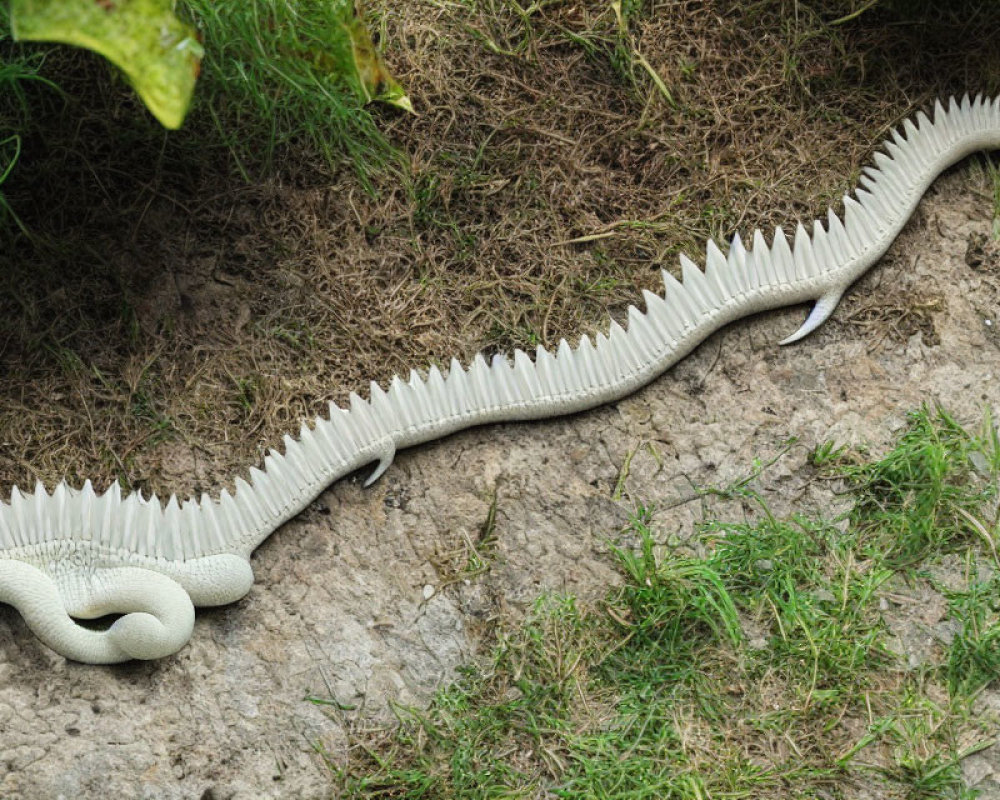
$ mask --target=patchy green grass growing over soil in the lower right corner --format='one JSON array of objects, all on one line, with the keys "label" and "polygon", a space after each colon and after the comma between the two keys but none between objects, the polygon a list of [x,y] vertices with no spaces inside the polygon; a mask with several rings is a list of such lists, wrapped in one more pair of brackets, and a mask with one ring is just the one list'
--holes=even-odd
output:
[{"label": "patchy green grass growing over soil in the lower right corner", "polygon": [[[612,547],[622,582],[604,603],[541,598],[429,708],[357,734],[332,765],[337,791],[971,798],[961,761],[996,739],[973,700],[1000,677],[998,452],[989,417],[969,432],[922,409],[881,458],[816,452],[817,477],[853,497],[846,520],[778,518],[750,481],[706,491],[746,518],[705,520],[703,557],[657,543],[640,508]],[[938,585],[956,558],[962,579]],[[898,582],[934,585],[955,631],[918,666],[889,635]]]}]

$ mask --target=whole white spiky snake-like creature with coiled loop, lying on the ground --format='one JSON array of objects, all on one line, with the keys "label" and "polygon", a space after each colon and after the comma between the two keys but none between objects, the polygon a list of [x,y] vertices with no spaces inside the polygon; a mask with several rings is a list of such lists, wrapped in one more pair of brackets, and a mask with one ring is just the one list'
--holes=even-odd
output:
[{"label": "whole white spiky snake-like creature with coiled loop, lying on the ground", "polygon": [[[792,242],[779,228],[770,243],[758,230],[748,250],[739,237],[726,254],[708,243],[704,271],[681,257],[682,281],[663,272],[665,295],[644,292],[645,313],[629,308],[628,328],[612,322],[594,341],[565,340],[513,363],[477,356],[447,375],[431,367],[388,390],[372,383],[368,400],[330,404],[329,419],[285,436],[264,470],[218,498],[161,504],[155,495],[103,495],[60,483],[49,494],[16,487],[0,502],[0,602],[16,607],[38,637],[67,658],[113,663],[160,658],[188,641],[194,606],[232,603],[253,583],[249,558],[286,520],[338,478],[377,461],[366,485],[397,449],[473,425],[570,414],[622,398],[675,364],[712,332],[767,309],[816,301],[786,344],[826,320],[841,295],[888,249],[942,170],[977,150],[1000,148],[1000,97],[936,103],[933,122],[907,120],[875,154],[844,219],[799,225]],[[78,624],[120,614],[107,630]]]}]

